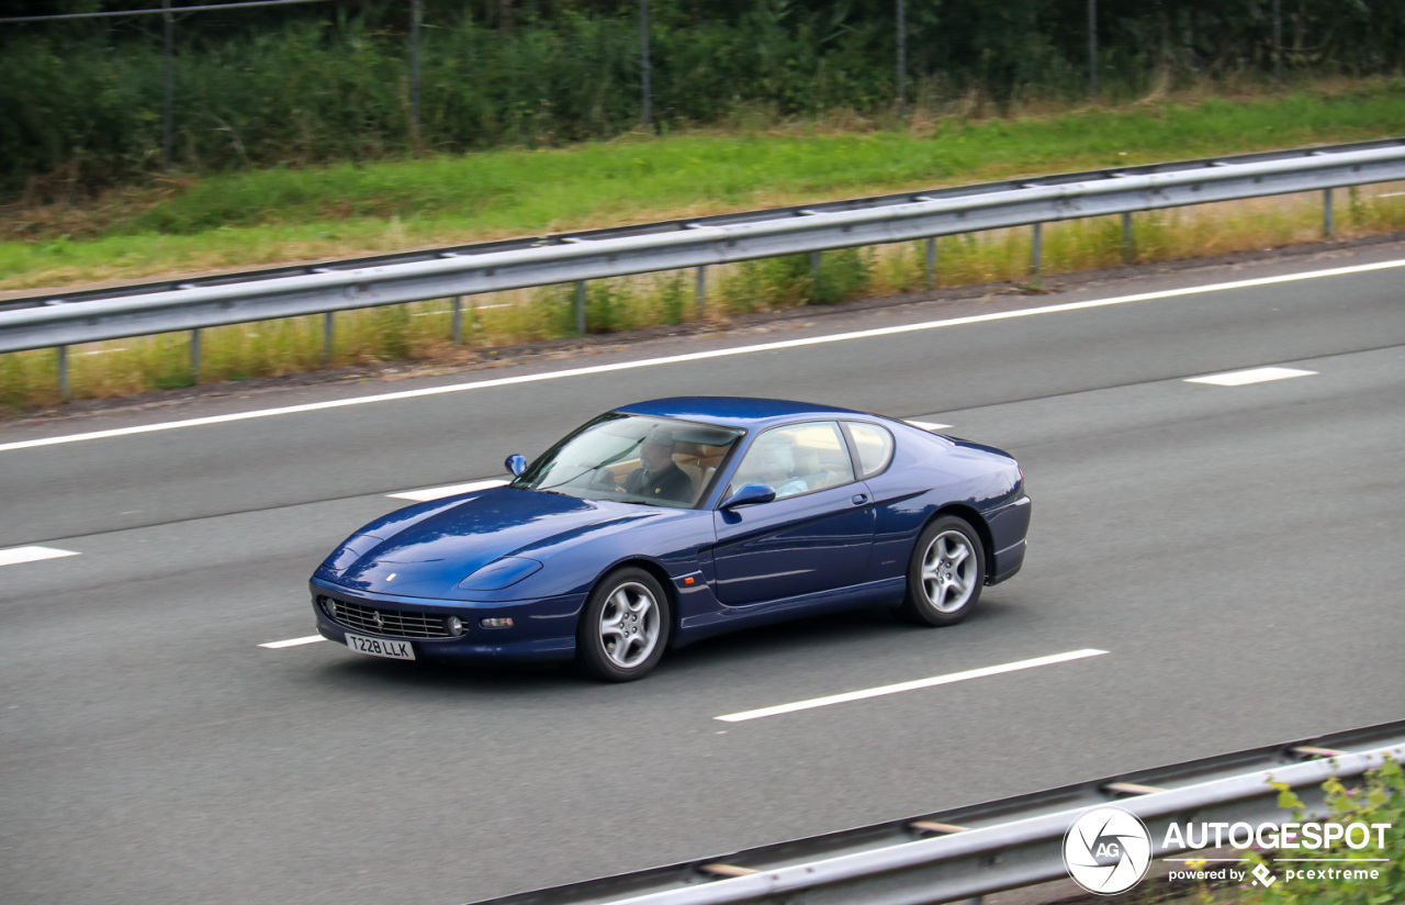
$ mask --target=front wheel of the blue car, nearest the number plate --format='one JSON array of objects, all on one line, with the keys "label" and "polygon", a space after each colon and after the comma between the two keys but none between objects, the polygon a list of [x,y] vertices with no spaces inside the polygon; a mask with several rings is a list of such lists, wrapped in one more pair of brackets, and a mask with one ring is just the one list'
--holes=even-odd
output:
[{"label": "front wheel of the blue car, nearest the number plate", "polygon": [[576,627],[580,668],[603,682],[642,679],[663,658],[673,627],[669,596],[643,569],[615,569],[596,585]]}]

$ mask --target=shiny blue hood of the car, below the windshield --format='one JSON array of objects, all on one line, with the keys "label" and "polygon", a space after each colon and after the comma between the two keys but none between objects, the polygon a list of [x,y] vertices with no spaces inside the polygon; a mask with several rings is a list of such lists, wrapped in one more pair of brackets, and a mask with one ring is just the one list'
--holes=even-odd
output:
[{"label": "shiny blue hood of the car, below the windshield", "polygon": [[[350,589],[407,597],[462,597],[458,583],[502,556],[531,558],[601,523],[649,519],[666,510],[573,496],[493,488],[392,513],[365,526],[318,571]],[[351,559],[348,564],[347,559]]]}]

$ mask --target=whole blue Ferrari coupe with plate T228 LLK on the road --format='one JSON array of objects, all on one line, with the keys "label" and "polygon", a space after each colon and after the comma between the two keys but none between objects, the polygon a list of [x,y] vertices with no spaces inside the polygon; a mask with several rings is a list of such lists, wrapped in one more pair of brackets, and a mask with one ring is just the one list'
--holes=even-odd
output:
[{"label": "whole blue Ferrari coupe with plate T228 LLK on the road", "polygon": [[950,625],[1020,569],[1030,524],[1000,450],[802,402],[641,402],[507,468],[348,537],[312,576],[318,630],[627,682],[670,646],[829,610]]}]

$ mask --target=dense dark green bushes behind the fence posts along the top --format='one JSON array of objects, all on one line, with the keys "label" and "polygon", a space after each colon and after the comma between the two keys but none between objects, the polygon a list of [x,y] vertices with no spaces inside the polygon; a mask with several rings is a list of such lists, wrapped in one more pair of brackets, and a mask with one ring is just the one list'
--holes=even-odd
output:
[{"label": "dense dark green bushes behind the fence posts along the top", "polygon": [[[11,0],[8,15],[150,8]],[[406,0],[181,15],[178,171],[556,146],[639,122],[634,0],[424,0],[419,142]],[[1027,110],[1087,93],[1086,4],[908,0],[909,110]],[[1189,82],[1394,73],[1405,4],[1102,0],[1103,97]],[[651,0],[653,112],[665,131],[856,111],[892,118],[894,0]],[[31,201],[150,174],[162,157],[162,17],[0,24],[0,193]]]}]

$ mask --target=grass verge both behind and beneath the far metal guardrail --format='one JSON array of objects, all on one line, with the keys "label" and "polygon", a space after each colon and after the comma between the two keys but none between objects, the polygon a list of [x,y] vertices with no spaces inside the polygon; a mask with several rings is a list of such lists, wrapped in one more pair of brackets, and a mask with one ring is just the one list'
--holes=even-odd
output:
[{"label": "grass verge both behind and beneath the far metal guardrail", "polygon": [[[1016,119],[939,119],[906,131],[821,125],[746,135],[629,136],[563,150],[502,150],[371,166],[173,180],[84,205],[0,211],[0,291],[237,268],[506,235],[702,215],[846,195],[930,188],[1016,174],[1096,169],[1405,132],[1405,83],[1319,86],[1283,97],[1168,100]],[[1342,193],[1338,235],[1405,228],[1390,190]],[[1205,205],[1137,216],[1137,260],[1270,247],[1318,237],[1319,200]],[[940,240],[941,285],[1020,280],[1028,232]],[[1121,260],[1116,218],[1058,223],[1044,233],[1045,273]],[[916,245],[804,261],[719,268],[708,316],[835,302],[920,288]],[[568,336],[568,294],[544,288],[475,299],[468,350],[447,337],[445,302],[340,315],[336,364],[464,360],[472,349]],[[601,281],[590,330],[693,316],[687,274]],[[208,330],[204,379],[289,374],[320,364],[316,319]],[[185,336],[74,349],[76,398],[190,382]],[[56,401],[49,351],[0,356],[0,406]]]}]

